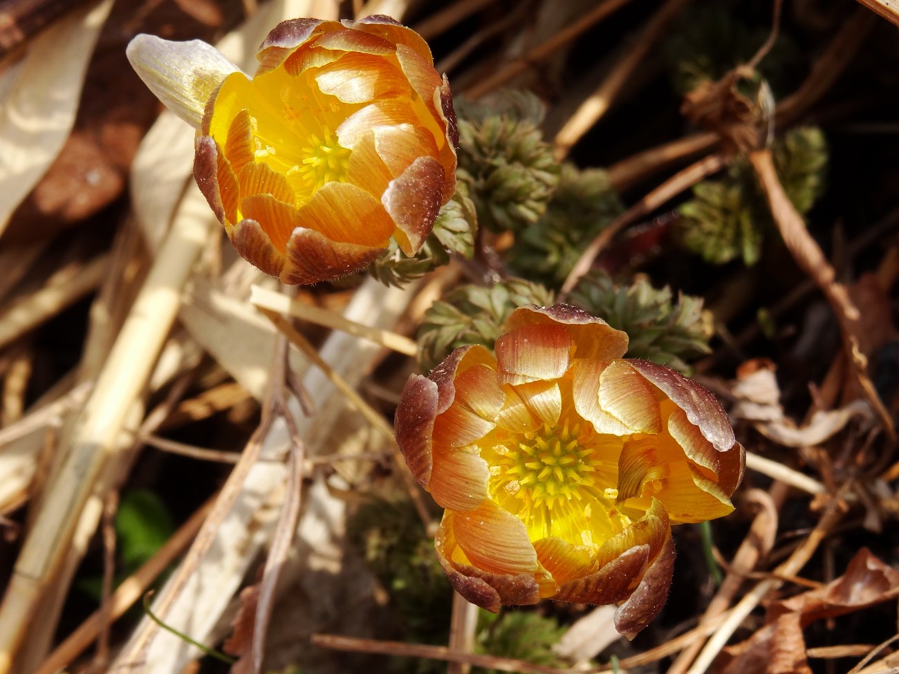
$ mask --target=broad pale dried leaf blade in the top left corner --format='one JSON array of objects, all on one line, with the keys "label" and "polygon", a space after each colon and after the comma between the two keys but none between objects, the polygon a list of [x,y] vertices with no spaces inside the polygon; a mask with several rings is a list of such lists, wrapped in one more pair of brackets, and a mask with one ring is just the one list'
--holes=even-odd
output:
[{"label": "broad pale dried leaf blade in the top left corner", "polygon": [[0,234],[72,130],[87,64],[111,7],[112,0],[102,0],[69,13],[31,40],[19,67],[0,76]]}]

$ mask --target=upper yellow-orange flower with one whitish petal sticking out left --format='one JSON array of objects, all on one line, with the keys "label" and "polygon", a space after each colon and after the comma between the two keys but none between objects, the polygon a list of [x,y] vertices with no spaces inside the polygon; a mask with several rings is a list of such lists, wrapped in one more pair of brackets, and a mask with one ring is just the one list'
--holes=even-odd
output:
[{"label": "upper yellow-orange flower with one whitish petal sticking out left", "polygon": [[198,129],[194,176],[237,252],[284,283],[360,270],[391,237],[414,255],[453,194],[449,84],[389,17],[282,22],[252,79],[197,40],[138,35],[128,56]]}]

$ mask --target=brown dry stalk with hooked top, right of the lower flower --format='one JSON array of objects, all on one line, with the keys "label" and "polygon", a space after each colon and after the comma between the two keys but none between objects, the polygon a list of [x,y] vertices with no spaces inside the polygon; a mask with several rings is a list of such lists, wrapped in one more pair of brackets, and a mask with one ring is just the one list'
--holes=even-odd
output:
[{"label": "brown dry stalk with hooked top, right of the lower flower", "polygon": [[[745,580],[746,574],[755,568],[759,560],[770,552],[774,545],[778,531],[778,509],[768,492],[761,489],[751,489],[746,492],[747,501],[759,508],[759,514],[752,520],[749,533],[743,538],[743,543],[734,554],[734,561],[727,570],[727,576],[721,583],[715,596],[708,602],[705,612],[699,618],[699,625],[708,623],[709,620],[723,614],[730,607],[737,590]],[[681,654],[673,662],[667,674],[683,674],[690,667],[690,662],[696,658],[702,649],[702,640],[697,639],[681,651]]]}]

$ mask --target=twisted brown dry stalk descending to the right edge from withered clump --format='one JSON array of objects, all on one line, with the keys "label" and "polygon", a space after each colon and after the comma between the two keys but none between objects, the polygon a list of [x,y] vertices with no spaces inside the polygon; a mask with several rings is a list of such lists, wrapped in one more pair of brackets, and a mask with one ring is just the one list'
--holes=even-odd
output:
[{"label": "twisted brown dry stalk descending to the right edge from withered clump", "polygon": [[890,438],[895,438],[893,419],[877,395],[877,389],[868,376],[868,359],[859,349],[859,309],[852,302],[846,288],[837,282],[836,272],[830,262],[827,262],[821,247],[808,233],[805,221],[780,184],[770,149],[752,152],[749,159],[784,244],[800,269],[814,279],[827,298],[837,317],[837,323],[840,324],[843,349],[859,386]]}]

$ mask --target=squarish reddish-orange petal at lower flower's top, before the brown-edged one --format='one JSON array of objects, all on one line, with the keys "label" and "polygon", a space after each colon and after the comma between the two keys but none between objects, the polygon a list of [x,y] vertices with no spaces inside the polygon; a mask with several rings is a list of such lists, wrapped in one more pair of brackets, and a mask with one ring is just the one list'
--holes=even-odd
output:
[{"label": "squarish reddish-orange petal at lower flower's top, before the brown-edged one", "polygon": [[570,362],[571,340],[561,325],[524,325],[503,334],[494,350],[500,381],[523,384],[562,377]]}]

